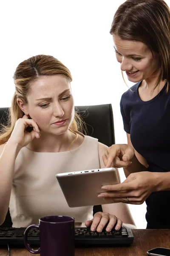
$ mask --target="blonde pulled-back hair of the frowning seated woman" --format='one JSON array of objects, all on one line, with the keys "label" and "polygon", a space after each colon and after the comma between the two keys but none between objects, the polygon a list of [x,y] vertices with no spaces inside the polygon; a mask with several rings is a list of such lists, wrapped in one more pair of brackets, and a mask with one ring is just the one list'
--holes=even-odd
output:
[{"label": "blonde pulled-back hair of the frowning seated woman", "polygon": [[[11,108],[8,111],[8,124],[3,125],[0,135],[0,145],[6,143],[11,136],[17,119],[22,118],[24,113],[17,104],[17,98],[27,104],[27,94],[30,91],[30,84],[40,76],[64,75],[68,81],[72,81],[70,71],[59,60],[50,55],[37,55],[21,62],[14,73],[15,93],[11,102]],[[76,131],[82,131],[83,122],[75,111],[74,120],[69,130],[76,134]]]}]

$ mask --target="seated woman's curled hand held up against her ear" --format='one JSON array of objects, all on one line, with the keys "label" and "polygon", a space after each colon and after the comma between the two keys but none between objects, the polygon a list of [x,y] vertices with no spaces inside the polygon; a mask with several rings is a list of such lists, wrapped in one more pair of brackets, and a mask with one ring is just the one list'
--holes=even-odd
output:
[{"label": "seated woman's curled hand held up against her ear", "polygon": [[[28,115],[24,115],[23,118],[19,118],[17,120],[9,139],[10,143],[15,143],[19,147],[23,148],[34,140],[34,138],[40,138],[40,130],[37,123],[33,119],[28,118]],[[28,126],[33,127],[31,132],[26,131]]]}]

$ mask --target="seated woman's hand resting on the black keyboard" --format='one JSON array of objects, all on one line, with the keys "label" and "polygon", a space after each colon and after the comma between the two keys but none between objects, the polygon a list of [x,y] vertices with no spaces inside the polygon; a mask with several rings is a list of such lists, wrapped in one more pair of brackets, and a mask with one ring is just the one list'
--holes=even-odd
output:
[{"label": "seated woman's hand resting on the black keyboard", "polygon": [[121,219],[106,212],[96,212],[94,218],[91,221],[86,221],[85,225],[86,227],[91,227],[91,231],[102,232],[107,223],[106,231],[108,232],[112,230],[115,224],[115,230],[119,230],[122,227]]}]

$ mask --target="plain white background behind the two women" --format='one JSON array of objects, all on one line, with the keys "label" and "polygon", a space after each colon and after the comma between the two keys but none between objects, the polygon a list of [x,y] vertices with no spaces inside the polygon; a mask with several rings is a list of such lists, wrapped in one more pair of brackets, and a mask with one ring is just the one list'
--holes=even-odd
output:
[{"label": "plain white background behind the two women", "polygon": [[[0,3],[0,107],[11,105],[17,65],[37,54],[58,58],[73,76],[75,105],[111,103],[116,143],[126,143],[119,102],[127,86],[109,31],[122,0],[6,0]],[[170,0],[166,1],[170,4]],[[131,86],[132,83],[128,82]],[[122,181],[125,179],[120,169]],[[146,204],[130,205],[145,228]]]}]

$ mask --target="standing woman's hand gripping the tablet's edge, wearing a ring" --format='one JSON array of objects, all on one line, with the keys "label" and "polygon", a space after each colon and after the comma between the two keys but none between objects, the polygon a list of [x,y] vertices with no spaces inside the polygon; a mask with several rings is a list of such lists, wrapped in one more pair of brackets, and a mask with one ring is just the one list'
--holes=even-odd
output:
[{"label": "standing woman's hand gripping the tablet's edge, wearing a ring", "polygon": [[159,180],[156,172],[134,172],[123,183],[102,186],[103,193],[98,197],[113,203],[143,204],[152,192],[158,191]]}]

